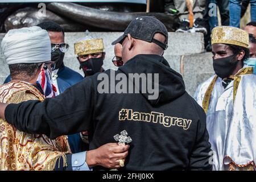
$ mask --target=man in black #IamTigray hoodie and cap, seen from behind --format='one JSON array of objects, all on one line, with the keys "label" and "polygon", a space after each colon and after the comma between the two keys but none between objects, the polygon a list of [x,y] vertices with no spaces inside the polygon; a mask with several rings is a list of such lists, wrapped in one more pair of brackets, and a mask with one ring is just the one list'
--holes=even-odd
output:
[{"label": "man in black #IamTigray hoodie and cap, seen from behind", "polygon": [[21,131],[52,139],[89,130],[90,149],[114,142],[113,136],[126,130],[133,141],[123,169],[210,170],[204,110],[162,56],[167,42],[162,22],[136,18],[113,42],[122,44],[124,65],[117,71],[86,77],[43,102],[0,104],[0,117]]}]

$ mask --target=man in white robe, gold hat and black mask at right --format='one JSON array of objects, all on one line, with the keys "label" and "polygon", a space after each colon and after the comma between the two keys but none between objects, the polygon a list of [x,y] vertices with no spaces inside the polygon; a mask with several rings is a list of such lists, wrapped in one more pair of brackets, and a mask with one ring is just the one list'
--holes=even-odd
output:
[{"label": "man in white robe, gold hat and black mask at right", "polygon": [[207,113],[214,170],[255,170],[256,75],[243,63],[248,46],[249,34],[239,28],[213,29],[216,75],[199,85],[195,99]]}]

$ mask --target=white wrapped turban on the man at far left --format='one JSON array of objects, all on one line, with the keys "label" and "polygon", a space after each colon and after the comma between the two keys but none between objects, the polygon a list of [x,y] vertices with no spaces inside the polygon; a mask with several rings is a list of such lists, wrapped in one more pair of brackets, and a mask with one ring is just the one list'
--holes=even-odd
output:
[{"label": "white wrapped turban on the man at far left", "polygon": [[13,29],[2,39],[7,64],[43,63],[51,60],[48,32],[40,27]]}]

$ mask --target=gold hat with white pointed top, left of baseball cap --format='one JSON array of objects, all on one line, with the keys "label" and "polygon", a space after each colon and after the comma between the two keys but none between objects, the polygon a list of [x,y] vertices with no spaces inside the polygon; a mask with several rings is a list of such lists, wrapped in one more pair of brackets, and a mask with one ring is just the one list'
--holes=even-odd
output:
[{"label": "gold hat with white pointed top, left of baseball cap", "polygon": [[97,53],[104,51],[103,39],[94,39],[89,35],[89,31],[86,30],[85,38],[79,40],[74,44],[75,54],[77,56],[89,55],[90,53]]}]

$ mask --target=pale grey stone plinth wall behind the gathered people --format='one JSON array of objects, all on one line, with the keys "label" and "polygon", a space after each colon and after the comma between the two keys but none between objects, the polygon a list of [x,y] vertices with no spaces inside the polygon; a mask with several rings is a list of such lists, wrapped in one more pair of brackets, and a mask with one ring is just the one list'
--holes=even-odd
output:
[{"label": "pale grey stone plinth wall behind the gathered people", "polygon": [[[117,69],[112,63],[114,57],[113,40],[122,35],[121,32],[92,32],[94,38],[103,38],[106,57],[104,60],[105,69]],[[4,34],[0,34],[0,42]],[[74,55],[73,44],[85,36],[84,32],[65,33],[65,42],[70,48],[65,53],[64,63],[69,68],[81,73],[79,62]],[[169,62],[172,69],[181,73],[184,77],[188,93],[193,94],[197,85],[213,75],[212,53],[204,52],[203,34],[169,33],[168,49],[164,52],[164,57]],[[3,55],[0,55],[0,84],[9,75],[9,68],[5,63]]]}]

